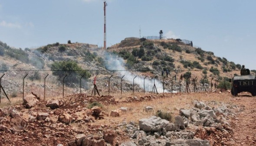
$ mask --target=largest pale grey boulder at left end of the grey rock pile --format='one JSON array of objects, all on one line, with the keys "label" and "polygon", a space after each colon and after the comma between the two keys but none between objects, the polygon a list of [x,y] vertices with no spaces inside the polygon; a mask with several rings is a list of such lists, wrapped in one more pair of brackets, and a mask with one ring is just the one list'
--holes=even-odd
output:
[{"label": "largest pale grey boulder at left end of the grey rock pile", "polygon": [[161,119],[160,117],[152,116],[150,118],[144,118],[139,120],[140,130],[148,131],[158,131],[161,128],[167,126],[169,121]]}]

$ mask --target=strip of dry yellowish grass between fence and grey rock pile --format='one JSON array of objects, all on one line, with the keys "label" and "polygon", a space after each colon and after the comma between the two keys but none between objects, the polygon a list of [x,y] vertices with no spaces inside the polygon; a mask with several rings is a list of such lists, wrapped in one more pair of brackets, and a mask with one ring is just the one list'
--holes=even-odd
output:
[{"label": "strip of dry yellowish grass between fence and grey rock pile", "polygon": [[[131,96],[131,94],[126,94],[126,97]],[[125,98],[125,95],[122,95]],[[135,95],[133,95],[135,96]],[[136,95],[141,96],[141,95]],[[120,103],[118,105],[110,105],[105,107],[107,112],[110,114],[112,110],[116,110],[121,107],[127,107],[128,111],[121,114],[120,117],[105,117],[103,120],[95,121],[95,124],[120,124],[123,120],[126,122],[135,121],[138,123],[139,119],[148,118],[152,115],[155,115],[157,110],[162,110],[164,112],[171,112],[172,117],[175,117],[179,114],[180,108],[190,109],[194,107],[193,101],[216,101],[228,103],[233,98],[229,92],[225,93],[178,93],[178,94],[160,94],[157,95],[158,98],[155,98],[151,101],[144,102],[132,102],[132,103]],[[163,96],[162,98],[160,96]],[[117,99],[117,100],[123,100]],[[146,112],[144,109],[146,106],[153,107],[154,111]],[[211,107],[217,105],[210,105]]]}]

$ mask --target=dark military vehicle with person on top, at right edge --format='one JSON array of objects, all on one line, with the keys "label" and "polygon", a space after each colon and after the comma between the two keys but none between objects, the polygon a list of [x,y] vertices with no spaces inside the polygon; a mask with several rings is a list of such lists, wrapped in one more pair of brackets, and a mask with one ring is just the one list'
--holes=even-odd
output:
[{"label": "dark military vehicle with person on top, at right edge", "polygon": [[250,92],[256,96],[256,76],[250,75],[250,70],[246,69],[247,75],[233,76],[231,82],[231,94],[237,96],[240,92]]}]

